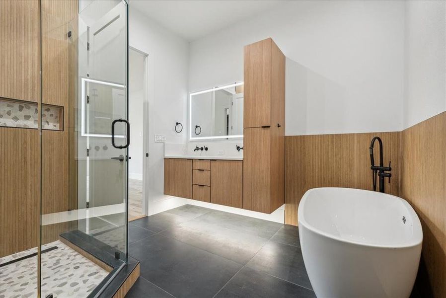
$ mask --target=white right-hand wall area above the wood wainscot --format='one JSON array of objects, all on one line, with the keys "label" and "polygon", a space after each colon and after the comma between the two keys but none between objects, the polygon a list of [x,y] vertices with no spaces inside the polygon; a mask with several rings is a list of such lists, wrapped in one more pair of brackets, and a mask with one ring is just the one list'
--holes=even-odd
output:
[{"label": "white right-hand wall area above the wood wainscot", "polygon": [[406,1],[404,128],[446,110],[446,2]]}]

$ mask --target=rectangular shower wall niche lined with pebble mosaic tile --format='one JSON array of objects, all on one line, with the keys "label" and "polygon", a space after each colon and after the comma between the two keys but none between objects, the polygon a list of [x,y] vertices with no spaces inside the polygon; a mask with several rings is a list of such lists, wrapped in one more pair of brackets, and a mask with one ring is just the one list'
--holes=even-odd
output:
[{"label": "rectangular shower wall niche lined with pebble mosaic tile", "polygon": [[[42,129],[64,130],[64,107],[42,104]],[[0,127],[39,128],[37,102],[0,98]]]}]

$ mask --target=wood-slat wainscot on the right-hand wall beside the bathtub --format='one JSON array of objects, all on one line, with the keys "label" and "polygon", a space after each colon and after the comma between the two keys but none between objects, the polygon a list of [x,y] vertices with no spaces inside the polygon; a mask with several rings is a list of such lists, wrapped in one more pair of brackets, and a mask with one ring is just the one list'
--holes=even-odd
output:
[{"label": "wood-slat wainscot on the right-hand wall beside the bathtub", "polygon": [[423,227],[417,288],[423,297],[446,297],[446,112],[401,133],[400,196]]}]

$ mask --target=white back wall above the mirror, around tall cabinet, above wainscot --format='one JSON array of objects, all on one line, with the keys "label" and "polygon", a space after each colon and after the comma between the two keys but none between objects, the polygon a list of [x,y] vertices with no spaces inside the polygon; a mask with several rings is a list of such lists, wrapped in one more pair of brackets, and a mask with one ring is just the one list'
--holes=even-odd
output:
[{"label": "white back wall above the mirror, around tall cabinet, above wainscot", "polygon": [[403,1],[287,2],[192,42],[189,89],[243,80],[243,46],[267,37],[289,58],[286,135],[402,129]]}]

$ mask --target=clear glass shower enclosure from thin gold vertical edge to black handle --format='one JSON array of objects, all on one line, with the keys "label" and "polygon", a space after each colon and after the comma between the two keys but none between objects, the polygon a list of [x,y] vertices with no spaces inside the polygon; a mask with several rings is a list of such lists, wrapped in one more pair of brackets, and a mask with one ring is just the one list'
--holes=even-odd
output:
[{"label": "clear glass shower enclosure from thin gold vertical edge to black handle", "polygon": [[38,296],[111,297],[128,264],[128,3],[55,2],[41,4],[42,55],[55,54],[40,104],[64,119],[58,132],[40,119]]}]

